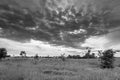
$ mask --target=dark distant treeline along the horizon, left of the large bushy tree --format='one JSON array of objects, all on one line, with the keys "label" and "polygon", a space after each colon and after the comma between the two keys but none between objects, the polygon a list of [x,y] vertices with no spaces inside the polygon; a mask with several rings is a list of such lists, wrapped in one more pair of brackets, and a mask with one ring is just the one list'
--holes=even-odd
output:
[{"label": "dark distant treeline along the horizon, left of the large bushy tree", "polygon": [[[60,56],[38,56],[38,54],[36,54],[35,56],[31,56],[31,57],[28,57],[26,55],[27,53],[25,51],[21,51],[20,52],[20,56],[14,56],[14,57],[26,57],[26,58],[68,58],[68,59],[93,59],[93,58],[96,58],[95,56],[95,53],[92,53],[91,54],[91,50],[88,50],[86,52],[85,55],[83,56],[80,56],[80,55],[68,55],[68,56],[65,56],[65,53],[64,54],[61,54]],[[0,48],[0,59],[1,58],[5,58],[5,57],[11,57],[10,55],[7,55],[7,50],[5,48]]]}]

